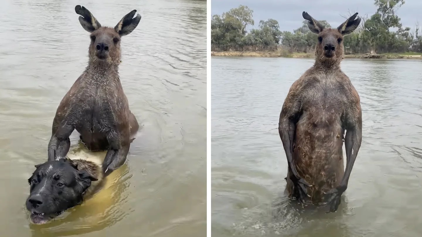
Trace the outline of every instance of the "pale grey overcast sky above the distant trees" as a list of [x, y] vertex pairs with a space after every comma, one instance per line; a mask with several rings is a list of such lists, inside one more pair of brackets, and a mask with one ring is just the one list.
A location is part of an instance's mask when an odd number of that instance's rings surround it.
[[[246, 5], [254, 11], [254, 27], [258, 26], [260, 20], [271, 18], [279, 22], [281, 31], [292, 31], [302, 25], [303, 11], [316, 20], [327, 20], [332, 27], [338, 27], [346, 20], [340, 14], [347, 16], [348, 9], [352, 13], [358, 12], [359, 16], [368, 14], [369, 18], [376, 11], [373, 3], [373, 0], [212, 0], [211, 14], [221, 14], [239, 5]], [[405, 0], [397, 15], [401, 18], [403, 26], [413, 29], [417, 21], [422, 25], [421, 12], [422, 0]]]

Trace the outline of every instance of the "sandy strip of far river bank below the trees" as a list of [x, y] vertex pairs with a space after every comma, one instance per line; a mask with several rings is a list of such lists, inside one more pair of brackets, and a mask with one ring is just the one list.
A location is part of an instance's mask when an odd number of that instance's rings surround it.
[[[346, 59], [358, 59], [363, 54], [346, 54]], [[381, 59], [422, 59], [422, 54], [414, 52], [379, 54]], [[314, 53], [292, 53], [285, 51], [211, 51], [211, 56], [217, 57], [286, 57], [286, 58], [314, 58]]]

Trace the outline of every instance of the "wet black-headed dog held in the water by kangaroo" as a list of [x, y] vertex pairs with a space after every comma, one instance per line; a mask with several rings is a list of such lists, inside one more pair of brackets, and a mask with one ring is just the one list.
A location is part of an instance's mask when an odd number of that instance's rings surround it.
[[33, 224], [45, 224], [63, 211], [81, 204], [103, 180], [101, 164], [68, 158], [35, 165], [28, 179], [26, 201]]

